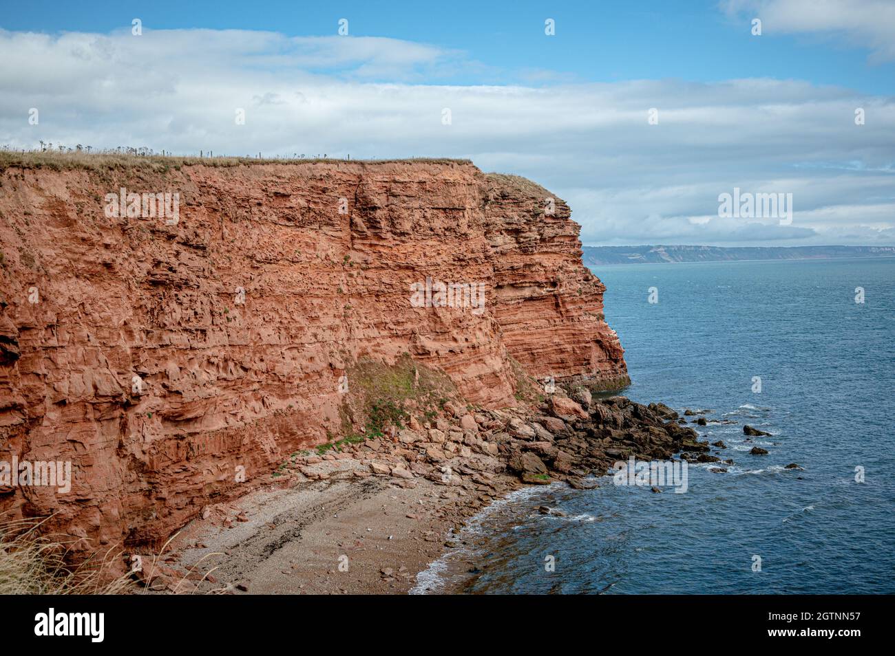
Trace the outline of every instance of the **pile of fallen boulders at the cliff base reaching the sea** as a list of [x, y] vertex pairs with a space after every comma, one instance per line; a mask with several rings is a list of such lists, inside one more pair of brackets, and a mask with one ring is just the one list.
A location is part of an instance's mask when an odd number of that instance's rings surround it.
[[[445, 416], [420, 425], [415, 419], [391, 437], [347, 444], [336, 453], [300, 456], [286, 467], [310, 479], [326, 478], [328, 461], [366, 462], [354, 476], [382, 476], [401, 486], [426, 478], [435, 484], [482, 492], [482, 502], [501, 492], [504, 478], [522, 484], [566, 481], [582, 485], [612, 463], [667, 459], [678, 451], [698, 458], [710, 450], [698, 433], [678, 423], [678, 413], [659, 403], [644, 406], [622, 396], [592, 399], [586, 388], [563, 391], [533, 408], [465, 411], [445, 405]], [[404, 483], [402, 483], [404, 482]], [[473, 504], [475, 507], [475, 504]]]

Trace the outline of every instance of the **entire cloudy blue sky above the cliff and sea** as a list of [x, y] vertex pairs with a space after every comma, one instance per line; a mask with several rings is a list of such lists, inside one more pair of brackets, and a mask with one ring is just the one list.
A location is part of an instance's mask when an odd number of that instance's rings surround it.
[[588, 245], [895, 245], [895, 0], [0, 0], [0, 147], [41, 140], [468, 158]]

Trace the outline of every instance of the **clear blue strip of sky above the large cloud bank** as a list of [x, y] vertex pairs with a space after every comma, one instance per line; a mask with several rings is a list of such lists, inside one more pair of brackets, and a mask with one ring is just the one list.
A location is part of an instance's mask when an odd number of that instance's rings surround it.
[[[561, 80], [717, 81], [773, 77], [891, 95], [895, 65], [868, 63], [866, 45], [835, 34], [750, 33], [748, 12], [730, 16], [711, 0], [630, 2], [4, 2], [10, 30], [108, 32], [140, 17], [148, 29], [252, 29], [325, 36], [346, 18], [353, 36], [388, 37], [464, 51], [481, 63], [444, 73], [455, 84], [533, 81], [524, 71]], [[553, 18], [557, 38], [544, 38]], [[548, 80], [544, 80], [548, 81]]]

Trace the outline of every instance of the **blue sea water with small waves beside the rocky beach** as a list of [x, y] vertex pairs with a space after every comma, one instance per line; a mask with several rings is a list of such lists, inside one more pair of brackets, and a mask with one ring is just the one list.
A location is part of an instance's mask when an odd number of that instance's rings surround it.
[[[690, 466], [680, 494], [608, 477], [526, 488], [475, 517], [416, 592], [895, 592], [895, 259], [594, 273], [626, 349], [623, 393], [736, 422], [694, 425], [735, 465]], [[772, 437], [746, 442], [744, 424]]]

